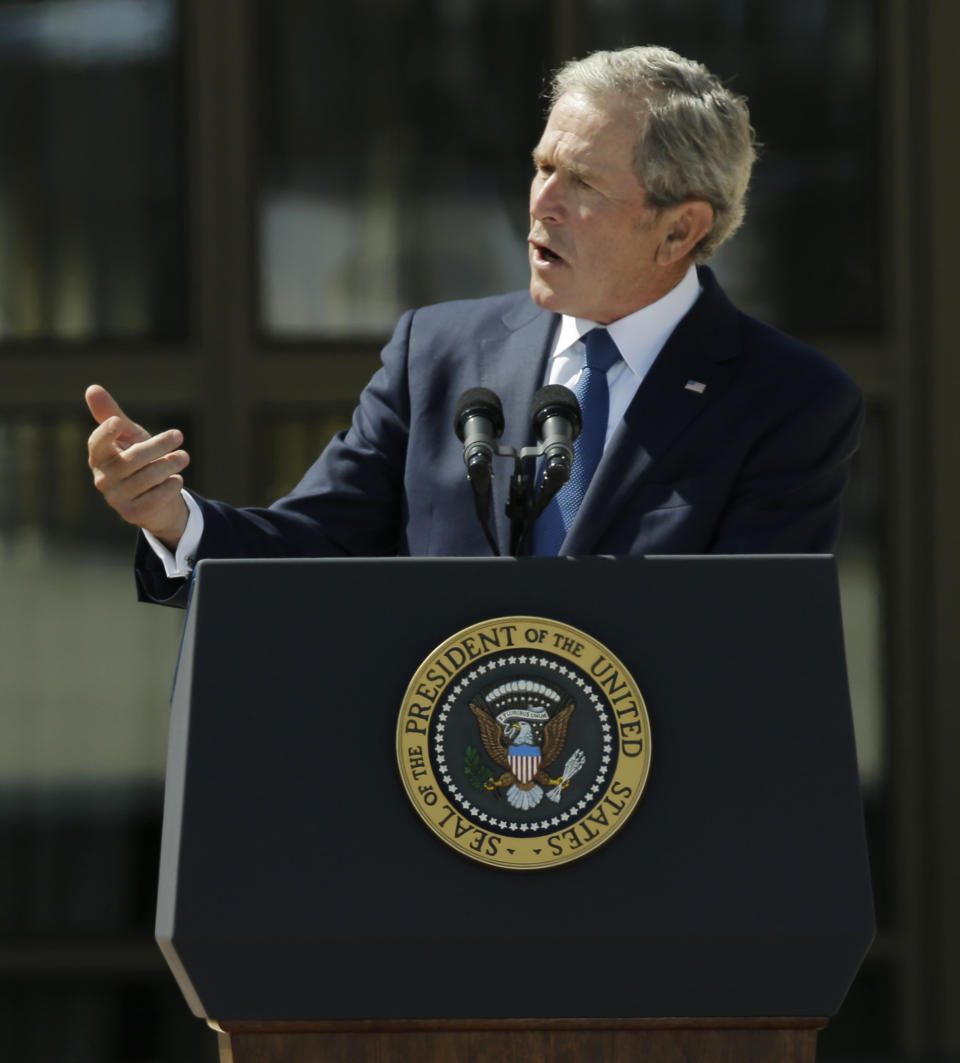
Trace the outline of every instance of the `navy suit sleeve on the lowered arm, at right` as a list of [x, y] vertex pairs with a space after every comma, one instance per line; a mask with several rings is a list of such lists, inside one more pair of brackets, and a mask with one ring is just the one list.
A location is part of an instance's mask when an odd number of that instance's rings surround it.
[[862, 425], [862, 396], [838, 373], [770, 427], [747, 455], [711, 553], [831, 553]]

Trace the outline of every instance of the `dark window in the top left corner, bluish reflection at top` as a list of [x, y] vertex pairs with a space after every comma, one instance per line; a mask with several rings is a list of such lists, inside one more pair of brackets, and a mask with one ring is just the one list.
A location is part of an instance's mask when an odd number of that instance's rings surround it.
[[185, 322], [173, 0], [0, 0], [0, 340]]

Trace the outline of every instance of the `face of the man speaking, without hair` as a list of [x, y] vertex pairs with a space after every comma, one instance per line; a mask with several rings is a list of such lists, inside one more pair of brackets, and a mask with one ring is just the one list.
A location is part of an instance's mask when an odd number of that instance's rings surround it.
[[561, 96], [550, 113], [530, 186], [530, 296], [538, 305], [608, 324], [679, 280], [656, 260], [670, 219], [647, 206], [634, 173], [640, 135], [625, 108], [579, 94]]

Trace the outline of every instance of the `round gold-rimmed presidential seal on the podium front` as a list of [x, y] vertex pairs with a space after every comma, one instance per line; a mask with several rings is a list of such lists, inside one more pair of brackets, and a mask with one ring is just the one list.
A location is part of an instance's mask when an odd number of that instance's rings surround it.
[[417, 670], [397, 756], [414, 807], [448, 845], [496, 867], [553, 867], [634, 811], [650, 720], [606, 646], [556, 621], [501, 617], [457, 631]]

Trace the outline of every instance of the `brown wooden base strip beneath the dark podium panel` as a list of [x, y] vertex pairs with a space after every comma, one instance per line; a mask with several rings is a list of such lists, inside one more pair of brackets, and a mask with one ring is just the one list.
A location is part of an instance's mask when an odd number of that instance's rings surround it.
[[814, 1063], [825, 1018], [210, 1023], [220, 1063]]

